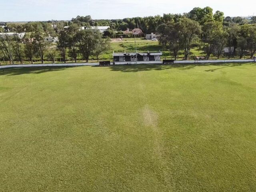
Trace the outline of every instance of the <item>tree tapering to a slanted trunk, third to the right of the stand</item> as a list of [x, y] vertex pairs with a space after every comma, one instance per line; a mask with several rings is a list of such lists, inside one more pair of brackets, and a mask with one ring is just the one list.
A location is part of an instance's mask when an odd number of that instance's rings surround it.
[[202, 27], [202, 41], [204, 42], [204, 49], [207, 59], [210, 58], [210, 55], [215, 50], [222, 30], [223, 27], [220, 22], [207, 22]]

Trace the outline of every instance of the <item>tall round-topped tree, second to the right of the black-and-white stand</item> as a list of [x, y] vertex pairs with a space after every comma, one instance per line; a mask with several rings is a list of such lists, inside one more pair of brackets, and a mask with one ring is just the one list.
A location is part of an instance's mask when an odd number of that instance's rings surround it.
[[201, 33], [201, 27], [198, 22], [194, 20], [182, 18], [178, 22], [177, 28], [181, 33], [181, 40], [184, 46], [184, 56], [185, 60], [187, 60], [193, 41]]

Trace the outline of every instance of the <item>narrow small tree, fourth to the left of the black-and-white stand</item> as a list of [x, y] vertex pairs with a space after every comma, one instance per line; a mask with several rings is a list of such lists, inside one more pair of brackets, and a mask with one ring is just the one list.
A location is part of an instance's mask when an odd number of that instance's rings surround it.
[[60, 55], [64, 63], [66, 63], [66, 50], [68, 48], [68, 33], [66, 31], [60, 31], [58, 34], [57, 48], [60, 51]]

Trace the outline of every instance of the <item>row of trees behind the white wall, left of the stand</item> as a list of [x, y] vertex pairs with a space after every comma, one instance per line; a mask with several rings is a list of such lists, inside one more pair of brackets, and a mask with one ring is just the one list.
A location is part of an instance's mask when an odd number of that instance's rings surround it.
[[[109, 39], [103, 39], [98, 30], [80, 30], [76, 23], [72, 23], [68, 30], [54, 31], [48, 23], [30, 23], [22, 27], [12, 26], [15, 31], [14, 36], [2, 36], [0, 38], [0, 57], [13, 63], [13, 60], [21, 64], [24, 58], [33, 63], [34, 57], [39, 57], [41, 62], [48, 58], [53, 63], [59, 53], [62, 61], [66, 63], [69, 56], [77, 62], [78, 54], [88, 62], [90, 56], [99, 55], [110, 47]], [[19, 32], [26, 28], [26, 35], [22, 38]], [[57, 37], [56, 44], [51, 44], [48, 38]]]

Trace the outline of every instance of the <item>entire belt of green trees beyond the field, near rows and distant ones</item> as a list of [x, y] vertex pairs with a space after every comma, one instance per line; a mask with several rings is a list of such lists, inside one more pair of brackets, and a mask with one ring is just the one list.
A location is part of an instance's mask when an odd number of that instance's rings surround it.
[[[110, 26], [110, 29], [102, 35], [98, 30], [82, 30], [81, 26]], [[92, 20], [90, 16], [77, 16], [71, 22], [29, 22], [8, 24], [7, 28], [15, 35], [0, 36], [0, 60], [10, 63], [14, 60], [21, 64], [24, 60], [33, 63], [33, 58], [40, 58], [42, 63], [44, 60], [55, 62], [56, 56], [63, 62], [67, 58], [76, 62], [81, 56], [88, 62], [89, 57], [99, 58], [102, 52], [110, 49], [106, 37], [116, 34], [113, 29], [126, 28], [140, 28], [145, 34], [156, 32], [163, 49], [169, 50], [174, 58], [182, 51], [184, 59], [188, 59], [194, 47], [203, 47], [207, 59], [212, 55], [220, 58], [224, 48], [228, 49], [228, 58], [233, 54], [252, 58], [256, 52], [255, 24], [247, 24], [239, 17], [224, 18], [223, 12], [213, 13], [210, 7], [194, 8], [184, 14], [122, 20]], [[22, 32], [26, 32], [25, 36], [20, 36]], [[49, 38], [56, 39], [56, 43], [50, 43]]]

